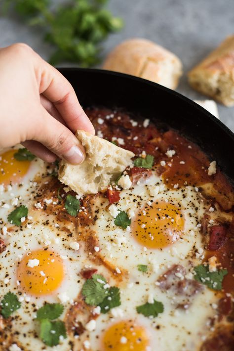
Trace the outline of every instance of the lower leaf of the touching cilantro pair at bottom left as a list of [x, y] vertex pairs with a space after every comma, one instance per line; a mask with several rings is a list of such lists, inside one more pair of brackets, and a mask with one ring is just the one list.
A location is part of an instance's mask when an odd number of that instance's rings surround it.
[[40, 322], [40, 339], [47, 346], [56, 346], [60, 342], [60, 337], [67, 338], [65, 324], [62, 320], [53, 322], [42, 319]]

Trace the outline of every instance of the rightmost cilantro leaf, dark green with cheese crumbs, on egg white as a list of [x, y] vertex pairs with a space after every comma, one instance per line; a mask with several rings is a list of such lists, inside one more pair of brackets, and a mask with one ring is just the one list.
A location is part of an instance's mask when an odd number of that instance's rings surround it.
[[221, 290], [223, 278], [228, 274], [227, 269], [220, 269], [215, 272], [210, 272], [208, 265], [199, 264], [195, 268], [195, 280], [208, 286], [213, 290]]

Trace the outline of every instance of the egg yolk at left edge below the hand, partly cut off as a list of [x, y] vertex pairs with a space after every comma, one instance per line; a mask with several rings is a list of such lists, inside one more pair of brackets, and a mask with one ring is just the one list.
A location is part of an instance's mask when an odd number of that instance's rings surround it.
[[0, 155], [0, 184], [9, 185], [20, 182], [29, 170], [30, 161], [17, 161], [14, 158], [16, 149]]

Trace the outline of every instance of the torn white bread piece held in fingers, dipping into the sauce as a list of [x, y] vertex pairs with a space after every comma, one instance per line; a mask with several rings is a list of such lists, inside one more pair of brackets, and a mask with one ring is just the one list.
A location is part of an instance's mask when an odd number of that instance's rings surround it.
[[61, 161], [58, 178], [79, 195], [107, 188], [131, 165], [133, 152], [84, 131], [77, 131], [76, 136], [85, 148], [86, 158], [78, 166]]

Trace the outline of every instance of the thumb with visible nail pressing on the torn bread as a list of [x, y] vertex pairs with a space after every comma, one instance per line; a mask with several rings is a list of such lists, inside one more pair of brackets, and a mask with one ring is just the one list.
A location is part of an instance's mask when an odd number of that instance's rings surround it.
[[85, 158], [85, 150], [76, 136], [42, 106], [39, 110], [38, 128], [33, 139], [71, 164], [78, 165]]

